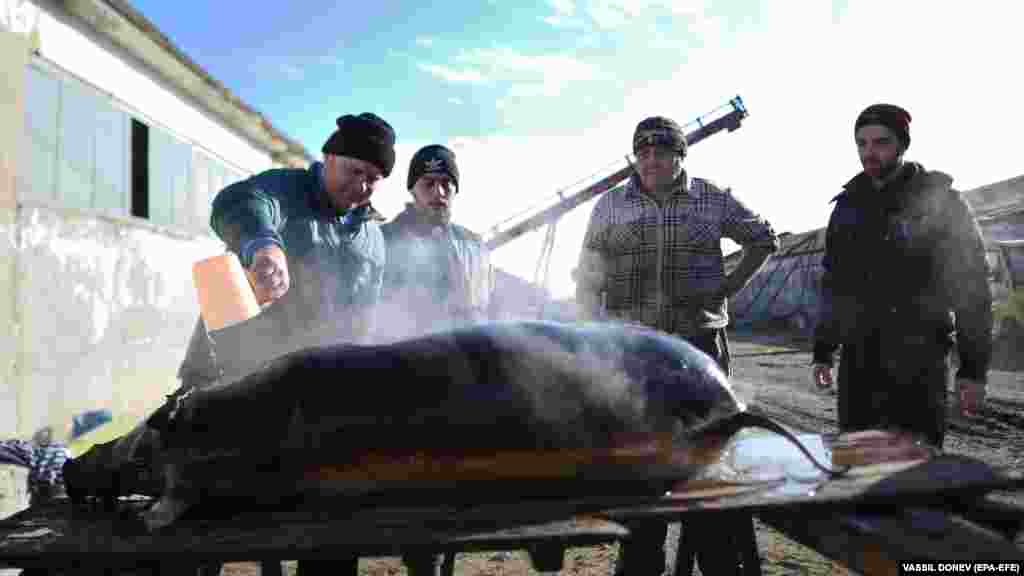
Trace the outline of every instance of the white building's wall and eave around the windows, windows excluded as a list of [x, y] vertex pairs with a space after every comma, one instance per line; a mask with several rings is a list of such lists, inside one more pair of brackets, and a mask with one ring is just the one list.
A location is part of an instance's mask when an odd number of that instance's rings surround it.
[[[199, 314], [191, 264], [223, 250], [201, 225], [159, 227], [30, 200], [18, 189], [26, 184], [15, 184], [31, 161], [22, 101], [28, 59], [97, 87], [243, 173], [272, 165], [268, 152], [53, 5], [40, 4], [28, 18], [34, 34], [0, 26], [0, 438], [26, 438], [43, 425], [63, 436], [87, 409], [142, 417], [159, 406], [177, 385]], [[33, 9], [0, 0], [0, 12], [12, 6]], [[39, 51], [30, 56], [33, 44]]]

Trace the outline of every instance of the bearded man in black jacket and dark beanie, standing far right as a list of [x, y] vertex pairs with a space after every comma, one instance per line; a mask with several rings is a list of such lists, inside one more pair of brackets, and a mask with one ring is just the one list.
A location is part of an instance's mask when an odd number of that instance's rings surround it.
[[841, 430], [898, 429], [941, 448], [954, 343], [962, 409], [983, 398], [992, 298], [980, 230], [952, 178], [903, 161], [909, 123], [893, 105], [856, 120], [864, 169], [834, 199], [813, 378], [831, 385], [842, 346]]

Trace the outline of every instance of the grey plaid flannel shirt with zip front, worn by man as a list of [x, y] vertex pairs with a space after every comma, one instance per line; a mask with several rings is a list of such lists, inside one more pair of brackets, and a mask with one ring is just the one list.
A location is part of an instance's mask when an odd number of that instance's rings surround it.
[[604, 294], [607, 316], [684, 336], [729, 323], [721, 240], [778, 249], [771, 225], [684, 171], [662, 202], [634, 175], [594, 207], [580, 258], [578, 301]]

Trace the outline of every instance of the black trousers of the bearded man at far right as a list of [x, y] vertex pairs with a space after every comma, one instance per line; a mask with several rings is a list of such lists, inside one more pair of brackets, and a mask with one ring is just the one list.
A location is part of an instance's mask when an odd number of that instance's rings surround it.
[[941, 448], [952, 377], [951, 347], [939, 337], [895, 333], [843, 344], [840, 429], [899, 429]]

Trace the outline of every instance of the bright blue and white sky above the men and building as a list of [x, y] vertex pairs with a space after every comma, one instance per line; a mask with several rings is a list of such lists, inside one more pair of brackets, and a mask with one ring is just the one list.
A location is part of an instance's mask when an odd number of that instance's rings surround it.
[[[625, 165], [643, 118], [684, 124], [736, 95], [742, 126], [694, 146], [684, 167], [779, 233], [825, 225], [860, 170], [853, 122], [879, 101], [910, 112], [906, 159], [961, 190], [1024, 173], [1015, 0], [132, 4], [316, 158], [340, 115], [390, 122], [397, 161], [373, 198], [387, 217], [410, 200], [415, 151], [453, 148], [454, 220], [484, 236]], [[593, 205], [558, 223], [553, 297], [573, 292]], [[532, 280], [543, 238], [520, 237], [493, 262]]]

